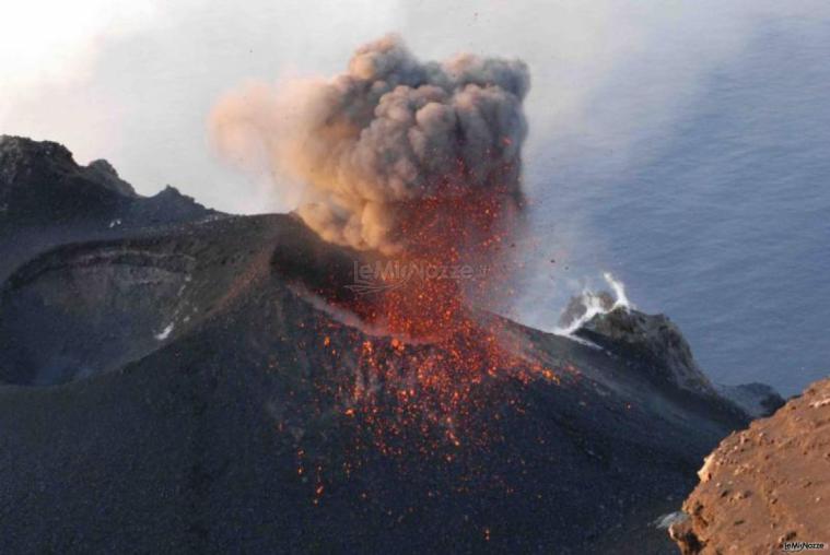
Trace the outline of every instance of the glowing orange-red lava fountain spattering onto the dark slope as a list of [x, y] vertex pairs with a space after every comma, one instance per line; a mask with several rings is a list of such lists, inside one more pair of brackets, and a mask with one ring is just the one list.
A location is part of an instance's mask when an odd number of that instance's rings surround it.
[[489, 385], [554, 379], [519, 355], [519, 346], [504, 344], [500, 319], [482, 321], [468, 308], [470, 296], [492, 296], [510, 278], [499, 263], [516, 225], [516, 200], [496, 191], [407, 210], [401, 233], [409, 247], [396, 261], [439, 270], [402, 283], [393, 276], [378, 294], [356, 302], [355, 312], [391, 340], [362, 343], [347, 411], [358, 411], [390, 453], [412, 434], [451, 446], [488, 441], [488, 432], [471, 432], [470, 422], [486, 409]]

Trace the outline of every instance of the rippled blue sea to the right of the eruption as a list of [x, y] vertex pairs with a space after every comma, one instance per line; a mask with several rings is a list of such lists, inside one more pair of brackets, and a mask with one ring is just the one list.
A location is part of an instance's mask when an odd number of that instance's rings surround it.
[[549, 180], [534, 226], [560, 259], [545, 309], [525, 299], [527, 320], [551, 328], [565, 292], [610, 270], [638, 307], [678, 322], [715, 381], [792, 394], [827, 376], [830, 26], [759, 29], [627, 155], [531, 172]]

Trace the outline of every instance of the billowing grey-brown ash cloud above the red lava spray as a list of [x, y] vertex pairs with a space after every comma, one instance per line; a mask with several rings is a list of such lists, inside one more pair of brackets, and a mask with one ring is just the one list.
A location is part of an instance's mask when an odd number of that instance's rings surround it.
[[424, 212], [463, 213], [482, 197], [521, 203], [528, 86], [521, 60], [421, 62], [389, 35], [332, 79], [230, 94], [210, 126], [230, 160], [258, 153], [278, 187], [302, 184], [297, 213], [323, 238], [390, 255], [423, 238], [413, 227], [428, 225]]

